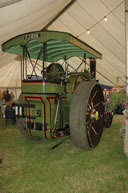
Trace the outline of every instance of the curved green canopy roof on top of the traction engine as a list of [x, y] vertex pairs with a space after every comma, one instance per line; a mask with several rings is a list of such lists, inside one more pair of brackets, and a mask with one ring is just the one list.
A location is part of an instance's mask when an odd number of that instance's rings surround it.
[[56, 62], [61, 59], [69, 59], [73, 56], [85, 58], [100, 58], [102, 55], [69, 33], [47, 31], [30, 32], [8, 40], [2, 44], [4, 52], [23, 56], [23, 48], [26, 48], [33, 59]]

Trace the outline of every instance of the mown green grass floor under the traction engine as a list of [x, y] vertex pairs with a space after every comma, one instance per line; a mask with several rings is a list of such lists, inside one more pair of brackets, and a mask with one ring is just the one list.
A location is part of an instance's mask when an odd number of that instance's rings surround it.
[[0, 119], [0, 193], [128, 193], [128, 159], [122, 152], [116, 115], [92, 151], [76, 148], [70, 137], [42, 142], [25, 139]]

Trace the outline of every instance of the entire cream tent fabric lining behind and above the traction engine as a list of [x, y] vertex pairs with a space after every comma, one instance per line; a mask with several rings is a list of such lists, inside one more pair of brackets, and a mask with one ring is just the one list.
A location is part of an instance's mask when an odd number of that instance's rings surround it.
[[[69, 2], [71, 0], [20, 0], [1, 7], [0, 44], [16, 35], [41, 30]], [[97, 60], [100, 83], [125, 84], [124, 0], [76, 0], [48, 29], [70, 32], [103, 54], [103, 59]], [[20, 87], [20, 62], [15, 58], [0, 51], [1, 88]], [[75, 65], [78, 59], [70, 62]]]

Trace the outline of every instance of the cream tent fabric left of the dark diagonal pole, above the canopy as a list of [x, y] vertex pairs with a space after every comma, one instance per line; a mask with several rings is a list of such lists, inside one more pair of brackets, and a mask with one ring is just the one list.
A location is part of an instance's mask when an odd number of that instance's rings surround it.
[[[40, 30], [71, 0], [22, 0], [0, 8], [0, 44], [16, 35]], [[16, 56], [0, 53], [0, 67]]]

